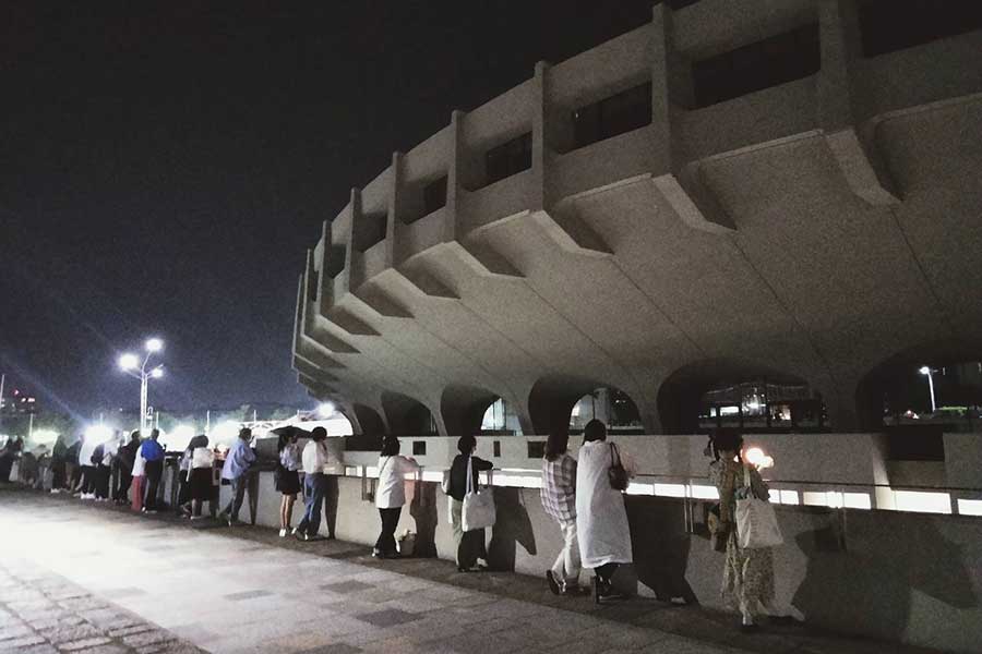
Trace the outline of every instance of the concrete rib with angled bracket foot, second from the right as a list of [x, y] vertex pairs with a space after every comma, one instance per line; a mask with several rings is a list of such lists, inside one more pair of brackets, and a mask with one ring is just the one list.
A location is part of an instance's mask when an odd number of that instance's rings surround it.
[[651, 14], [651, 133], [655, 186], [679, 219], [693, 229], [711, 233], [735, 230], [700, 174], [698, 161], [686, 161], [684, 144], [675, 130], [680, 107], [690, 102], [688, 72], [672, 43], [672, 11], [656, 4]]

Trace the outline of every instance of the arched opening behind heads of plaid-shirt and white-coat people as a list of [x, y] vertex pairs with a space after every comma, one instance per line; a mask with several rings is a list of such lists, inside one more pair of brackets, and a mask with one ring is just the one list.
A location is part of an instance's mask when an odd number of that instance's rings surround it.
[[577, 433], [594, 417], [613, 433], [643, 433], [637, 403], [624, 391], [597, 379], [550, 375], [532, 386], [529, 413], [537, 434]]

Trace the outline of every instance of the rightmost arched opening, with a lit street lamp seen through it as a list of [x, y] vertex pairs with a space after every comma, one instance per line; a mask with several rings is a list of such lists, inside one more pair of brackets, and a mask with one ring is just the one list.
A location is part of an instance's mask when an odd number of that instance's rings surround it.
[[910, 348], [866, 373], [857, 386], [860, 426], [979, 428], [982, 409], [982, 344], [959, 340]]

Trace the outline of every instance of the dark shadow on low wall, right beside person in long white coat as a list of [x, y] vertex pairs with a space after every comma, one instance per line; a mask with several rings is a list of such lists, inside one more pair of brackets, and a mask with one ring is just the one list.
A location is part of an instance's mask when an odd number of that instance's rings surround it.
[[696, 603], [695, 592], [685, 580], [692, 536], [682, 525], [681, 502], [636, 501], [626, 496], [631, 524], [631, 548], [637, 580], [651, 589], [659, 600], [684, 597]]

